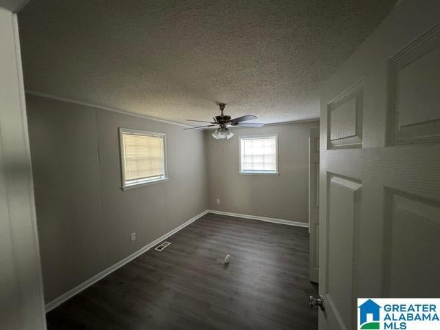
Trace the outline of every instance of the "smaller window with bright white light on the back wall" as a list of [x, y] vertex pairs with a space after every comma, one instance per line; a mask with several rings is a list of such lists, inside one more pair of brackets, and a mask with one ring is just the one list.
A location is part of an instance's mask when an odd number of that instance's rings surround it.
[[278, 135], [240, 137], [240, 174], [278, 175]]

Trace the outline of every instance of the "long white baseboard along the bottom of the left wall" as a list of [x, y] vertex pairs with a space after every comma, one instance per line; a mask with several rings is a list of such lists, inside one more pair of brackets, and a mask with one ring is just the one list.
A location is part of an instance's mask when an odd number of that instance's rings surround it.
[[118, 270], [118, 268], [122, 267], [126, 263], [129, 263], [130, 261], [135, 259], [137, 256], [140, 256], [142, 253], [150, 250], [151, 248], [153, 248], [153, 246], [155, 246], [158, 243], [164, 241], [164, 239], [167, 239], [169, 236], [175, 234], [179, 230], [185, 228], [190, 223], [196, 221], [200, 217], [203, 217], [203, 215], [205, 215], [206, 213], [208, 213], [208, 210], [203, 211], [200, 214], [197, 214], [195, 217], [192, 217], [191, 219], [189, 219], [185, 223], [182, 223], [177, 228], [174, 228], [173, 230], [171, 230], [170, 232], [167, 232], [166, 234], [164, 234], [163, 236], [159, 237], [155, 241], [145, 245], [144, 248], [142, 248], [140, 250], [137, 250], [135, 253], [127, 256], [126, 258], [122, 259], [121, 261], [118, 261], [118, 263], [115, 263], [111, 267], [109, 267], [106, 270], [103, 270], [102, 272], [100, 272], [100, 273], [96, 274], [95, 276], [89, 278], [87, 281], [85, 281], [85, 282], [81, 283], [80, 285], [74, 287], [73, 289], [69, 290], [65, 294], [62, 294], [58, 298], [55, 298], [54, 300], [50, 301], [49, 303], [46, 304], [46, 313], [49, 312], [49, 311], [52, 311], [52, 309], [54, 309], [55, 307], [58, 307], [59, 305], [64, 303], [69, 298], [72, 298], [76, 294], [79, 294], [84, 289], [87, 289], [87, 287], [89, 287], [90, 285], [93, 285], [94, 283], [100, 281], [100, 279], [104, 278], [105, 276], [109, 275], [110, 273], [114, 272], [115, 270]]

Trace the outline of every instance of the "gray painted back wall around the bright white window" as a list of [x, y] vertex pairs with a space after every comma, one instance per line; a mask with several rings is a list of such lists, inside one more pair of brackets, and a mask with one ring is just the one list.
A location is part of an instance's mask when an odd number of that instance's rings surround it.
[[[231, 140], [215, 140], [206, 131], [210, 210], [308, 222], [311, 128], [319, 122], [234, 129]], [[280, 175], [239, 175], [239, 136], [270, 133], [278, 134]]]

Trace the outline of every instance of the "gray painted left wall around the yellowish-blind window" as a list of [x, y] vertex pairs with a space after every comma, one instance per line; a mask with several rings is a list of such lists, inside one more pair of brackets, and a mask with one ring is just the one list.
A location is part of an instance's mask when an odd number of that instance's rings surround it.
[[[46, 302], [206, 210], [203, 132], [30, 94], [26, 104]], [[166, 133], [168, 181], [120, 189], [120, 126]]]

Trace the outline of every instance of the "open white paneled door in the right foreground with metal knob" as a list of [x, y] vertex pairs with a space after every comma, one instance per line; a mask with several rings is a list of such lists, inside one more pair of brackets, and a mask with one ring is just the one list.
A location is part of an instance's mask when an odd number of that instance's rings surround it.
[[319, 329], [440, 296], [440, 1], [401, 0], [323, 85]]

